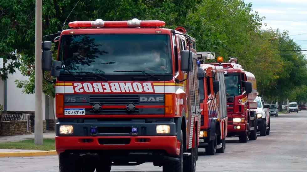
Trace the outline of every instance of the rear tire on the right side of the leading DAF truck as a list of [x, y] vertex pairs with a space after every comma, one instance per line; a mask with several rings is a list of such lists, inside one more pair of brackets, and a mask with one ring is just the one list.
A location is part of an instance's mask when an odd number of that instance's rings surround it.
[[196, 171], [196, 148], [197, 148], [197, 139], [196, 139], [196, 131], [194, 135], [194, 148], [190, 149], [190, 156], [184, 157], [184, 163], [183, 163], [183, 171], [184, 172], [195, 172]]

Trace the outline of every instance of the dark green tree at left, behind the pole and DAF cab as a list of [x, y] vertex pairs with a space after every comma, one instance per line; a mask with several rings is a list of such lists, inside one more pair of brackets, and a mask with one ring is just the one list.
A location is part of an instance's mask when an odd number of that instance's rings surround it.
[[[89, 0], [80, 1], [71, 13], [68, 21], [76, 20], [164, 20], [168, 27], [174, 28], [183, 23], [187, 14], [196, 9], [201, 0]], [[56, 33], [62, 29], [71, 9], [75, 6], [73, 0], [46, 0], [43, 2], [43, 35]], [[2, 0], [0, 2], [0, 55], [4, 61], [11, 60], [1, 70], [1, 77], [14, 73], [21, 64], [23, 75], [29, 81], [16, 81], [17, 86], [28, 94], [34, 93], [34, 38], [35, 38], [35, 1], [33, 0]], [[67, 23], [66, 23], [67, 24]], [[68, 28], [67, 25], [64, 28]], [[18, 61], [19, 60], [19, 61]], [[7, 72], [8, 71], [8, 72]], [[44, 82], [44, 93], [54, 95], [51, 85]], [[47, 91], [47, 92], [46, 92]], [[51, 91], [51, 92], [49, 92]]]

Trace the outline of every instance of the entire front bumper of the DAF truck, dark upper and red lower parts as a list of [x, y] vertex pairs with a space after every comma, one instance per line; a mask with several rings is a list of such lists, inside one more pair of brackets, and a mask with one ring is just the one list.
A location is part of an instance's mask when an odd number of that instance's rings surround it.
[[[55, 124], [55, 146], [66, 150], [160, 150], [179, 155], [177, 119], [59, 119]], [[72, 125], [73, 133], [60, 134], [60, 125]], [[169, 134], [157, 134], [157, 125], [169, 125]], [[132, 128], [137, 131], [132, 132]], [[92, 132], [95, 129], [96, 132]]]

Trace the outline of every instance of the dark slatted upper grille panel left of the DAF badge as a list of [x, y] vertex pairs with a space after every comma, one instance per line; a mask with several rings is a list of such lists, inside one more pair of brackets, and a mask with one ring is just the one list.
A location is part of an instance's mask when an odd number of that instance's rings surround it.
[[126, 105], [130, 102], [139, 104], [139, 96], [132, 94], [105, 94], [105, 95], [90, 95], [90, 104], [100, 103], [104, 105]]

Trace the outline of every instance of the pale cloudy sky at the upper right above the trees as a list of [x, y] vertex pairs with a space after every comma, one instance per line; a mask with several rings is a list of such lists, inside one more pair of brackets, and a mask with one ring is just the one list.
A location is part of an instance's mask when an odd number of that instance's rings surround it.
[[307, 50], [307, 0], [244, 0], [244, 2], [252, 3], [253, 11], [265, 16], [262, 26], [264, 29], [288, 30], [290, 38], [301, 45], [302, 50]]

